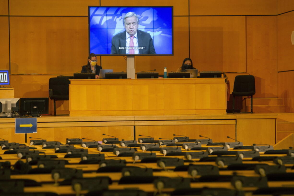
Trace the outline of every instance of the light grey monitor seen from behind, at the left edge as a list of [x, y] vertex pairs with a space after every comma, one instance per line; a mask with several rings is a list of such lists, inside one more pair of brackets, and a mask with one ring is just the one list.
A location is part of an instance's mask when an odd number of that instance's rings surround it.
[[19, 98], [0, 99], [0, 116], [14, 117], [19, 116]]

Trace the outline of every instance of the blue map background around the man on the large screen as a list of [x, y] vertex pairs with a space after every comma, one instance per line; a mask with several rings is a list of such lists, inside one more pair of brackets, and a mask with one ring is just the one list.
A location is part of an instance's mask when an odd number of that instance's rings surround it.
[[130, 11], [139, 17], [138, 29], [151, 35], [156, 54], [172, 54], [171, 7], [89, 7], [90, 53], [111, 53], [111, 39], [125, 31], [123, 17]]

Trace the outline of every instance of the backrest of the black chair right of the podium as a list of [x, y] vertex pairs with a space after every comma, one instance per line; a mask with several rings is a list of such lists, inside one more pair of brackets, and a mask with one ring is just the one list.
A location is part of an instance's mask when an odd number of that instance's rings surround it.
[[236, 76], [234, 82], [234, 92], [254, 92], [255, 78], [251, 75]]

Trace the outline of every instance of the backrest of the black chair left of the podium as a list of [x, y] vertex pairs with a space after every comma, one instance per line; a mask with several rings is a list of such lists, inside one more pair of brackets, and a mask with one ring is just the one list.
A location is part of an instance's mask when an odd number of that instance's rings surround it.
[[68, 77], [56, 77], [49, 79], [49, 89], [52, 89], [53, 95], [69, 95]]

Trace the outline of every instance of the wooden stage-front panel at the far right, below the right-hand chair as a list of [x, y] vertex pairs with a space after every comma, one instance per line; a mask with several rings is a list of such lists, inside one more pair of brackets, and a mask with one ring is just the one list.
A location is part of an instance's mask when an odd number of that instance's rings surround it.
[[244, 145], [273, 145], [275, 134], [275, 119], [237, 119], [237, 139]]

